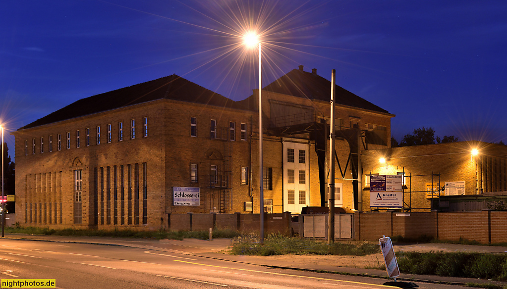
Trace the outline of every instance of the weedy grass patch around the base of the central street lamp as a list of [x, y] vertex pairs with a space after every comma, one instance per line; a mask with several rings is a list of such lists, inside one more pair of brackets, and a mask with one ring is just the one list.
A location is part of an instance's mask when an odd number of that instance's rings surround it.
[[327, 242], [296, 237], [286, 237], [281, 234], [269, 234], [260, 243], [259, 237], [254, 235], [236, 237], [232, 240], [231, 254], [233, 255], [352, 255], [365, 256], [378, 253], [379, 247], [375, 243], [361, 242], [335, 242], [328, 245]]

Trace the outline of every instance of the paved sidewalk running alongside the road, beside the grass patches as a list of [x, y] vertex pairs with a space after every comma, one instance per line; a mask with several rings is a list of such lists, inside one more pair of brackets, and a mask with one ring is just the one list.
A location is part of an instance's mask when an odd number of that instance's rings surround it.
[[[111, 237], [68, 237], [68, 236], [45, 236], [45, 235], [28, 235], [28, 234], [6, 234], [8, 239], [18, 240], [37, 240], [51, 242], [73, 242], [73, 243], [92, 243], [103, 245], [117, 245], [126, 247], [135, 247], [146, 250], [162, 251], [193, 255], [204, 258], [212, 258], [230, 262], [241, 262], [252, 265], [269, 266], [275, 268], [300, 269], [307, 271], [325, 271], [339, 274], [351, 274], [370, 277], [385, 277], [385, 270], [365, 269], [359, 263], [355, 266], [343, 266], [344, 259], [348, 259], [354, 263], [354, 258], [345, 256], [314, 256], [302, 255], [294, 258], [292, 255], [284, 256], [234, 256], [226, 254], [224, 251], [230, 245], [230, 239], [214, 239], [212, 241], [198, 239], [179, 240], [154, 240], [154, 239], [132, 239], [132, 238], [111, 238]], [[482, 252], [482, 253], [504, 253], [507, 247], [496, 246], [477, 246], [477, 245], [457, 245], [457, 244], [411, 244], [411, 245], [395, 245], [395, 251], [445, 251], [445, 252]], [[379, 254], [380, 258], [381, 255]], [[372, 256], [371, 258], [378, 258]], [[383, 265], [380, 259], [377, 264]], [[401, 274], [399, 280], [412, 282], [428, 282], [428, 283], [448, 283], [456, 285], [464, 285], [468, 282], [473, 283], [494, 283], [505, 286], [507, 282], [494, 282], [483, 279], [473, 278], [457, 278], [457, 277], [441, 277], [434, 275], [411, 275]], [[387, 281], [387, 280], [386, 280]]]

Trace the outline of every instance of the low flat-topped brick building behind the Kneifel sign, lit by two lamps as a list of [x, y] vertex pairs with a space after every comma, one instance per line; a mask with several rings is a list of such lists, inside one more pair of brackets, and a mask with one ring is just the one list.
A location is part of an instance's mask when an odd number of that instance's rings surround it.
[[[380, 158], [385, 162], [380, 163]], [[404, 174], [404, 208], [411, 212], [436, 209], [439, 195], [507, 192], [507, 146], [499, 144], [466, 141], [368, 150], [362, 153], [361, 163], [364, 211], [377, 209], [370, 208], [371, 175]]]

